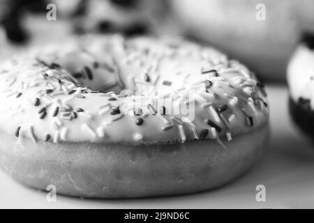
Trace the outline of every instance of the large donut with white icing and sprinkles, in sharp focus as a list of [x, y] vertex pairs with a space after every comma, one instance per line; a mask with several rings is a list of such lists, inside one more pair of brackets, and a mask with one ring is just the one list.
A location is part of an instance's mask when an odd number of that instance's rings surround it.
[[199, 192], [264, 151], [262, 84], [210, 47], [89, 36], [0, 70], [0, 164], [31, 187], [96, 198]]

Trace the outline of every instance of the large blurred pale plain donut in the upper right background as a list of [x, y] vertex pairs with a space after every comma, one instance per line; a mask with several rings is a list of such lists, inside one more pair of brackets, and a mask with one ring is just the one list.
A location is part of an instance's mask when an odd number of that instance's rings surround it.
[[[267, 80], [285, 81], [294, 47], [304, 33], [314, 31], [311, 0], [170, 3], [183, 32], [222, 49]], [[265, 20], [257, 20], [263, 6]]]

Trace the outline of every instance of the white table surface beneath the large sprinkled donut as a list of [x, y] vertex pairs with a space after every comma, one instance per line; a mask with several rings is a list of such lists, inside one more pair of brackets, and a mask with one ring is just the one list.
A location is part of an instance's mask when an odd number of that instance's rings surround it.
[[[0, 171], [0, 208], [314, 208], [314, 145], [294, 128], [287, 112], [287, 88], [267, 87], [271, 140], [264, 158], [246, 175], [217, 190], [177, 197], [96, 200], [57, 195], [24, 187]], [[256, 185], [266, 201], [255, 199]]]

